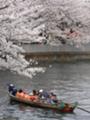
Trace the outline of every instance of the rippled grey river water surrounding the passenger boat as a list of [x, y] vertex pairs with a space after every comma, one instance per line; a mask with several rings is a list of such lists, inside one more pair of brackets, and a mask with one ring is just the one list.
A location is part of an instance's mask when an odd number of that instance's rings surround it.
[[55, 92], [65, 102], [79, 103], [79, 107], [90, 111], [90, 62], [42, 63], [47, 69], [32, 79], [10, 71], [0, 71], [0, 120], [90, 120], [90, 113], [75, 109], [73, 114], [60, 114], [24, 106], [11, 105], [7, 94], [7, 83], [14, 83], [27, 92], [44, 88]]

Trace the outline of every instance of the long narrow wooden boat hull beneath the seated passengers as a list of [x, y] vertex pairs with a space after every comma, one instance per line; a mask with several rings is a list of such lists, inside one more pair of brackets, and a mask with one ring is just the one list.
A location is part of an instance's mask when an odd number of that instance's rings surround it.
[[59, 104], [52, 105], [52, 104], [44, 103], [42, 101], [33, 102], [31, 100], [21, 99], [16, 96], [13, 96], [12, 94], [9, 94], [9, 96], [10, 96], [11, 101], [24, 103], [24, 104], [30, 105], [32, 107], [51, 109], [51, 110], [55, 110], [55, 111], [62, 112], [62, 113], [72, 113], [74, 111], [74, 109], [77, 107], [77, 102], [71, 103], [71, 104], [61, 102]]

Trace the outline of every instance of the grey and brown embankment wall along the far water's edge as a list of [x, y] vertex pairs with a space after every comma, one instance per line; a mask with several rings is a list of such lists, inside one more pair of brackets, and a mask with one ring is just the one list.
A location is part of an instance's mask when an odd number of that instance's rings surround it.
[[22, 47], [25, 50], [22, 54], [25, 55], [27, 60], [34, 59], [49, 62], [90, 60], [89, 45], [76, 48], [70, 45], [49, 46], [42, 44], [23, 44]]

